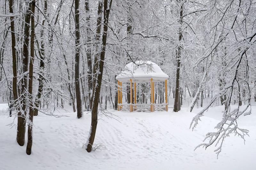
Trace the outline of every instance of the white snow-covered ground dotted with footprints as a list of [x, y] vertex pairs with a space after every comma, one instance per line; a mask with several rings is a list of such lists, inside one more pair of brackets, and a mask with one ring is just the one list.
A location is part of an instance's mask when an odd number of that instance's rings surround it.
[[[60, 118], [39, 114], [34, 118], [32, 154], [26, 154], [26, 143], [16, 142], [16, 127], [8, 117], [6, 104], [0, 104], [0, 169], [256, 169], [256, 107], [252, 115], [239, 119], [241, 127], [250, 130], [246, 142], [227, 137], [219, 159], [214, 146], [195, 147], [205, 134], [213, 131], [221, 119], [222, 106], [212, 107], [199, 122], [189, 129], [195, 113], [180, 112], [127, 113], [108, 110], [114, 118], [100, 117], [94, 144], [104, 144], [106, 150], [87, 153], [82, 148], [91, 123], [90, 114], [81, 119], [76, 113], [55, 113]], [[15, 120], [15, 124], [17, 120]], [[27, 132], [26, 132], [27, 133]]]

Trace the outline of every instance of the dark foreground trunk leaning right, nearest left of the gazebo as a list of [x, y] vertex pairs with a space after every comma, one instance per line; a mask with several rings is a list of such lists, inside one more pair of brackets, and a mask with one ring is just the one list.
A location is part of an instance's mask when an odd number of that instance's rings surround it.
[[97, 86], [95, 87], [94, 98], [93, 98], [93, 105], [92, 105], [92, 122], [90, 128], [90, 134], [88, 139], [88, 144], [86, 151], [92, 151], [92, 145], [94, 142], [97, 123], [98, 123], [98, 105], [99, 105], [99, 98], [100, 98], [100, 88], [101, 88], [101, 81], [103, 75], [103, 68], [104, 68], [104, 59], [105, 59], [105, 51], [106, 51], [106, 43], [107, 43], [107, 32], [108, 32], [108, 17], [110, 12], [110, 7], [112, 4], [112, 0], [110, 0], [110, 4], [108, 5], [108, 0], [104, 0], [104, 26], [103, 26], [103, 35], [102, 35], [102, 48], [100, 52], [100, 60], [99, 60], [99, 70], [97, 71]]

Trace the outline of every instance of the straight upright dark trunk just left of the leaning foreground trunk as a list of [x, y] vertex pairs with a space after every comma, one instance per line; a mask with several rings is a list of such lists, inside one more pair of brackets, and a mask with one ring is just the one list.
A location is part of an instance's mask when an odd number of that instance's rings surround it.
[[76, 86], [76, 108], [77, 108], [77, 118], [81, 118], [83, 116], [83, 104], [82, 104], [82, 96], [81, 96], [81, 87], [80, 84], [80, 21], [79, 21], [79, 0], [75, 0], [75, 86]]

